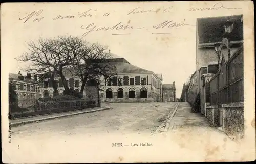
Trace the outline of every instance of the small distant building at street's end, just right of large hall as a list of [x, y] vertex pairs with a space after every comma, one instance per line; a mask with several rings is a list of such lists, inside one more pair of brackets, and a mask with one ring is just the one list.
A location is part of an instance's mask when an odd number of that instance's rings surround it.
[[163, 101], [162, 102], [175, 102], [175, 101], [176, 101], [175, 82], [173, 84], [163, 84]]

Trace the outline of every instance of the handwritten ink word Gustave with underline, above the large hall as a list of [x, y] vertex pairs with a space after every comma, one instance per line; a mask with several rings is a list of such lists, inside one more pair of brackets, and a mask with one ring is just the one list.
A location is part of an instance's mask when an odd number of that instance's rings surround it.
[[123, 25], [122, 22], [119, 22], [113, 26], [97, 26], [94, 23], [91, 23], [89, 25], [81, 25], [81, 29], [85, 29], [86, 32], [83, 33], [83, 35], [81, 36], [81, 38], [85, 37], [86, 35], [88, 35], [89, 33], [93, 32], [93, 31], [117, 31], [117, 30], [139, 30], [139, 29], [143, 29], [144, 27], [137, 27], [135, 28], [134, 26], [131, 25]]

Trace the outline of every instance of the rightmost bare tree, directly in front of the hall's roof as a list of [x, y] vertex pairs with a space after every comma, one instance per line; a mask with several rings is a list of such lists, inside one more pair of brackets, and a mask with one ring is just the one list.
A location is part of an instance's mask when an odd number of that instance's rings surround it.
[[[99, 43], [88, 43], [78, 37], [72, 38], [73, 64], [68, 68], [74, 77], [79, 77], [82, 85], [80, 94], [86, 89], [88, 81], [94, 81], [94, 86], [100, 89], [100, 77], [105, 80], [116, 75], [116, 67], [109, 61], [112, 57], [106, 51], [108, 47]], [[75, 44], [76, 43], [76, 44]]]

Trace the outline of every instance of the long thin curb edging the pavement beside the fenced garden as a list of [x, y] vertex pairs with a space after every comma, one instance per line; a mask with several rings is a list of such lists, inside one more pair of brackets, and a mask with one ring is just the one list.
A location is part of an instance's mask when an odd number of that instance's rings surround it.
[[81, 112], [76, 112], [76, 113], [71, 113], [71, 114], [63, 114], [63, 115], [60, 115], [60, 116], [50, 116], [50, 117], [46, 117], [46, 118], [40, 118], [40, 119], [34, 119], [34, 120], [28, 120], [28, 121], [21, 121], [21, 122], [14, 122], [14, 123], [10, 123], [10, 127], [18, 126], [18, 125], [23, 125], [23, 124], [27, 124], [27, 123], [32, 123], [32, 122], [45, 121], [45, 120], [52, 120], [52, 119], [55, 119], [55, 118], [61, 118], [61, 117], [79, 115], [79, 114], [83, 114], [83, 113], [91, 113], [91, 112], [109, 110], [109, 109], [111, 109], [111, 108], [112, 108], [112, 107], [102, 107], [102, 108], [98, 108], [98, 109], [96, 109], [96, 110], [81, 111]]

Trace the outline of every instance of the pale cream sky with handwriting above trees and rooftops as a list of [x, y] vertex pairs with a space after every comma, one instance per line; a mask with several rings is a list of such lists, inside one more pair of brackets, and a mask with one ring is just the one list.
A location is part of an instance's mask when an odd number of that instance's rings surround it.
[[82, 37], [108, 45], [135, 66], [161, 73], [164, 84], [175, 81], [179, 98], [183, 83], [196, 70], [196, 19], [241, 14], [239, 7], [228, 2], [5, 4], [1, 53], [8, 58], [8, 71], [17, 73], [29, 65], [15, 60], [28, 51], [26, 42], [40, 36]]

